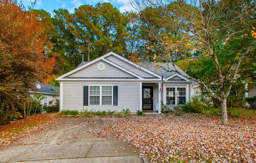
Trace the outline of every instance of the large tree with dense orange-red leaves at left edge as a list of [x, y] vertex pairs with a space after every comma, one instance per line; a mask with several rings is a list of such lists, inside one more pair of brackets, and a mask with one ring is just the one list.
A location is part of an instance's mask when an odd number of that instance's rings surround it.
[[0, 120], [23, 105], [36, 81], [47, 80], [55, 64], [47, 39], [35, 13], [15, 0], [0, 0]]

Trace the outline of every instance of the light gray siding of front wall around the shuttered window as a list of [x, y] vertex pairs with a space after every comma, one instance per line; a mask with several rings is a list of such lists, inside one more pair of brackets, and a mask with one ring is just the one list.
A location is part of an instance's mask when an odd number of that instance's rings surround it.
[[[63, 82], [63, 110], [116, 110], [130, 109], [132, 112], [139, 110], [139, 81], [62, 81]], [[118, 86], [118, 105], [89, 105], [83, 106], [83, 87]], [[113, 89], [113, 87], [112, 87]], [[90, 94], [90, 93], [89, 93]], [[112, 91], [113, 94], [113, 91]], [[113, 100], [112, 100], [113, 103]]]

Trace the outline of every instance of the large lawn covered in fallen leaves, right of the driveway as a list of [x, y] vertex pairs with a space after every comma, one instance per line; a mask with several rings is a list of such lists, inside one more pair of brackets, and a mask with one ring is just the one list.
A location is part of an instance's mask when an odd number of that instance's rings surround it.
[[171, 114], [112, 118], [98, 136], [126, 137], [151, 162], [256, 162], [256, 117]]

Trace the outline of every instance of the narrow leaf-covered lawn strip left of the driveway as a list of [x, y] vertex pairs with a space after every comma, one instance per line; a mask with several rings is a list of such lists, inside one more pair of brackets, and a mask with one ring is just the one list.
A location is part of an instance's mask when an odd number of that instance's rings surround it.
[[18, 120], [12, 124], [0, 127], [0, 147], [15, 142], [18, 138], [29, 136], [43, 130], [53, 122], [52, 114], [38, 114], [37, 116]]

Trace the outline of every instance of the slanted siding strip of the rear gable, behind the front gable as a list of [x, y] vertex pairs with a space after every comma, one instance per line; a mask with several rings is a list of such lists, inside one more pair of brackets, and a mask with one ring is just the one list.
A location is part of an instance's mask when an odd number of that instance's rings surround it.
[[124, 67], [125, 69], [128, 69], [129, 71], [132, 71], [133, 73], [145, 78], [145, 77], [152, 77], [152, 78], [155, 78], [154, 75], [152, 74], [149, 74], [148, 72], [145, 72], [137, 67], [135, 67], [134, 65], [131, 65], [130, 63], [127, 63], [113, 55], [111, 56], [108, 56], [106, 58], [107, 60], [110, 60], [111, 62], [114, 62], [115, 64], [121, 66], [121, 67]]

